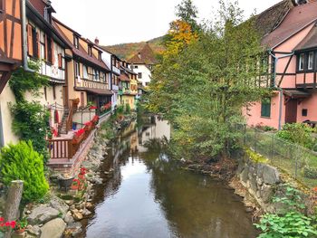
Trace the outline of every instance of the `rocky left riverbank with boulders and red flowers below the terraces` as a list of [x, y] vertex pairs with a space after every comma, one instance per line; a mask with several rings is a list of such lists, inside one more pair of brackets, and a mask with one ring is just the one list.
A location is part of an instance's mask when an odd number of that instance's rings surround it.
[[[104, 120], [95, 132], [91, 149], [82, 161], [81, 171], [75, 175], [51, 173], [50, 193], [38, 203], [25, 206], [23, 216], [28, 226], [24, 233], [14, 234], [13, 237], [79, 237], [82, 233], [82, 219], [90, 217], [94, 209], [91, 203], [94, 195], [92, 186], [104, 182], [101, 173], [107, 173], [109, 178], [113, 176], [111, 168], [109, 171], [100, 171], [108, 155], [110, 139], [116, 137], [116, 133], [129, 126], [134, 119], [136, 114], [130, 113], [119, 117], [109, 116]], [[61, 176], [70, 178], [70, 190], [61, 187]]]

